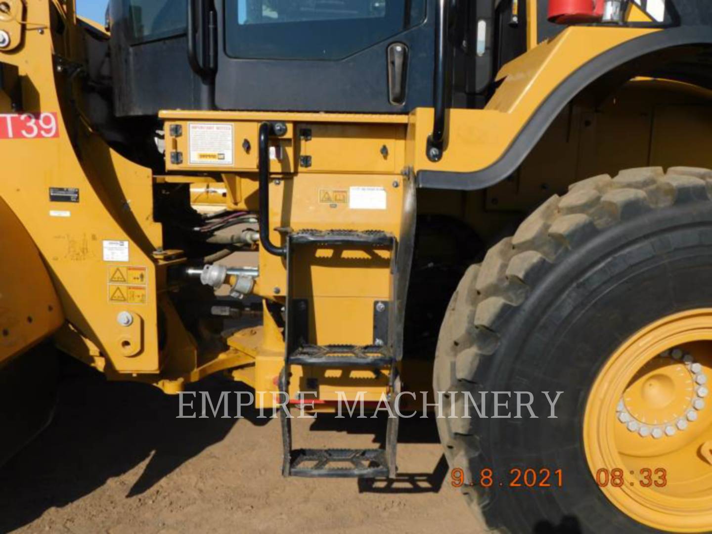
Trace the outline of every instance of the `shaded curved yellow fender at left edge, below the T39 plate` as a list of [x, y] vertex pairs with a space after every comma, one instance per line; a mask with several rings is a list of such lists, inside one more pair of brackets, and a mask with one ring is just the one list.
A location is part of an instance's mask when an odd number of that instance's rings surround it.
[[0, 199], [0, 365], [54, 333], [64, 322], [37, 247]]

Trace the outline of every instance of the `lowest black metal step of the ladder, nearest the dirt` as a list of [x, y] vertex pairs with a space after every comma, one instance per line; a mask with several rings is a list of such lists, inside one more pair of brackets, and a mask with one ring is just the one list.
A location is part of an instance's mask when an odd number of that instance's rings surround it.
[[297, 449], [291, 454], [291, 476], [377, 478], [388, 473], [382, 449]]

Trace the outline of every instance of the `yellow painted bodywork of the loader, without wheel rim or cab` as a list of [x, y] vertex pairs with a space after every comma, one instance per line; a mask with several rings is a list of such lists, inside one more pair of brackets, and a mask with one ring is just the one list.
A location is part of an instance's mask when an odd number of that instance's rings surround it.
[[[27, 245], [9, 246], [28, 254], [34, 246], [43, 261], [40, 266], [35, 256], [35, 261], [11, 256], [2, 267], [3, 283], [12, 281], [9, 287], [21, 285], [33, 295], [23, 303], [26, 308], [9, 306], [13, 311], [8, 324], [18, 325], [23, 340], [16, 347], [28, 347], [63, 321], [56, 335], [63, 350], [112, 379], [141, 380], [166, 392], [179, 392], [184, 384], [225, 370], [258, 391], [274, 391], [284, 343], [281, 328], [265, 313], [262, 326], [234, 333], [223, 350], [199, 349], [170, 298], [174, 288], [167, 273], [186, 258], [182, 251], [164, 250], [162, 225], [153, 212], [156, 184], [192, 184], [196, 206], [255, 210], [257, 151], [244, 147], [257, 146], [262, 122], [282, 121], [286, 133], [271, 141], [273, 242], [281, 242], [279, 229], [286, 228], [379, 228], [400, 236], [420, 172], [476, 172], [496, 163], [545, 100], [577, 70], [616, 46], [661, 31], [575, 26], [538, 43], [536, 18], [531, 17], [529, 49], [498, 73], [498, 88], [486, 107], [448, 111], [446, 150], [437, 163], [426, 158], [431, 108], [409, 115], [166, 110], [160, 115], [166, 132], [166, 172], [155, 175], [112, 150], [83, 119], [81, 98], [63, 67], [84, 61], [85, 36], [73, 2], [7, 3], [11, 15], [0, 17], [0, 29], [9, 32], [14, 46], [0, 51], [5, 79], [15, 73], [23, 113], [56, 117], [56, 135], [0, 141], [1, 214], [9, 221], [3, 228], [20, 225], [26, 231], [4, 230], [4, 235], [11, 234], [14, 241], [29, 236], [24, 238]], [[536, 8], [535, 2], [529, 4]], [[629, 17], [644, 19], [636, 10]], [[63, 20], [62, 33], [56, 31], [57, 18]], [[602, 107], [585, 101], [562, 103], [563, 111], [551, 117], [552, 126], [541, 132], [542, 139], [513, 178], [474, 192], [419, 192], [418, 211], [454, 215], [488, 236], [567, 181], [619, 167], [622, 161], [666, 164], [684, 152], [688, 161], [711, 164], [708, 151], [689, 144], [689, 137], [709, 133], [710, 96], [684, 84], [634, 80]], [[0, 92], [0, 112], [14, 113], [7, 92]], [[191, 162], [190, 132], [195, 125], [229, 125], [234, 162], [211, 164], [211, 155], [204, 162]], [[178, 131], [174, 127], [182, 134], [172, 135]], [[310, 135], [304, 135], [307, 131]], [[667, 135], [671, 131], [676, 134]], [[623, 140], [626, 150], [609, 150]], [[172, 159], [172, 154], [182, 159]], [[550, 169], [554, 161], [556, 169]], [[78, 192], [79, 201], [53, 200], [55, 189]], [[354, 196], [363, 194], [377, 209], [359, 208], [363, 200]], [[315, 247], [308, 256], [308, 261], [295, 264], [298, 289], [291, 296], [309, 301], [310, 339], [322, 345], [370, 342], [373, 303], [393, 296], [390, 253]], [[14, 282], [18, 266], [21, 278], [33, 283]], [[261, 250], [258, 266], [256, 295], [283, 303], [283, 258]], [[16, 299], [11, 296], [10, 302]], [[132, 318], [130, 327], [120, 324], [122, 313]], [[29, 316], [36, 317], [31, 324]], [[10, 352], [14, 350], [19, 349]], [[2, 352], [3, 357], [8, 356]], [[293, 372], [300, 374], [298, 368]], [[427, 374], [420, 368], [417, 373]], [[323, 382], [323, 399], [334, 399], [342, 387], [363, 389], [363, 373], [351, 375]], [[387, 380], [370, 377], [367, 390], [377, 398]], [[428, 380], [414, 380], [419, 381]]]

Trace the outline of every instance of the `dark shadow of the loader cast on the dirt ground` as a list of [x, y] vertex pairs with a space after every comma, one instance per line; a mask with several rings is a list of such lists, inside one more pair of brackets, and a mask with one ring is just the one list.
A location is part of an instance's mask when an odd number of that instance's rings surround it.
[[[211, 393], [239, 391], [243, 384], [212, 377], [192, 389]], [[195, 404], [197, 407], [198, 404]], [[61, 382], [53, 422], [17, 456], [0, 467], [0, 533], [62, 508], [130, 471], [148, 459], [127, 489], [127, 498], [149, 491], [162, 478], [210, 446], [223, 441], [234, 425], [276, 424], [260, 412], [242, 409], [241, 419], [177, 419], [178, 399], [145, 384], [108, 382], [89, 367], [61, 357]], [[385, 420], [334, 419], [320, 415], [311, 431], [371, 434], [384, 440]], [[435, 443], [434, 419], [404, 420], [401, 443]], [[377, 445], [375, 445], [377, 446]], [[395, 480], [360, 480], [360, 492], [437, 492], [446, 476], [444, 459], [433, 473], [401, 473]], [[356, 482], [355, 482], [356, 483]]]

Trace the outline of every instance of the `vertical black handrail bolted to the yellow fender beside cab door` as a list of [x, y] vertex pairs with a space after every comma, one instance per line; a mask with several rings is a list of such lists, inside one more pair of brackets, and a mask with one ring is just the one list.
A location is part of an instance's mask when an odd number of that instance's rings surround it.
[[449, 24], [451, 0], [437, 0], [435, 14], [435, 72], [433, 78], [433, 132], [428, 137], [426, 155], [431, 162], [439, 162], [445, 145], [445, 112], [449, 66]]

